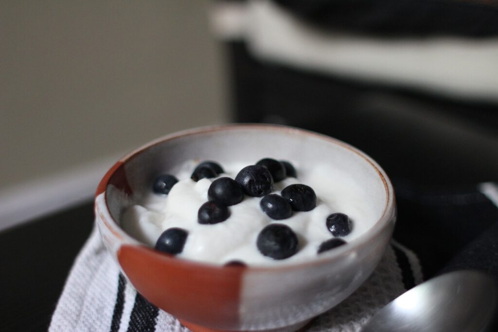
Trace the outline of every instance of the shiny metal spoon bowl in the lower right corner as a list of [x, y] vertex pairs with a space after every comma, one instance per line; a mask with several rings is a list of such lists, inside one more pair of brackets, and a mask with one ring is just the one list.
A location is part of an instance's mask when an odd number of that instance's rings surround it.
[[497, 314], [495, 280], [481, 272], [456, 271], [394, 299], [373, 315], [362, 332], [498, 331]]

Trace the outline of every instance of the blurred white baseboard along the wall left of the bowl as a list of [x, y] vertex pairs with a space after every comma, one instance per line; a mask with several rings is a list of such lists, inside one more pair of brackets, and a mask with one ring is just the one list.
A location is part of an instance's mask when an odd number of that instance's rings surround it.
[[0, 190], [0, 231], [91, 200], [99, 181], [123, 155]]

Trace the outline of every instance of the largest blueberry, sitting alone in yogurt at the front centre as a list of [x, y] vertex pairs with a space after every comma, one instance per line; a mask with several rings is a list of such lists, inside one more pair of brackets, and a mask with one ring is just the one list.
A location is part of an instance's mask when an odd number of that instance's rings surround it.
[[273, 259], [285, 259], [297, 252], [297, 236], [289, 226], [270, 224], [257, 236], [256, 245], [261, 254]]

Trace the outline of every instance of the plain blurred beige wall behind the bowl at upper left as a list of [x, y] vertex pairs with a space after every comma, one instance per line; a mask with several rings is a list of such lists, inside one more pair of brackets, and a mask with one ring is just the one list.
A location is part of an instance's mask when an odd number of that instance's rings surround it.
[[226, 121], [209, 1], [0, 1], [0, 189]]

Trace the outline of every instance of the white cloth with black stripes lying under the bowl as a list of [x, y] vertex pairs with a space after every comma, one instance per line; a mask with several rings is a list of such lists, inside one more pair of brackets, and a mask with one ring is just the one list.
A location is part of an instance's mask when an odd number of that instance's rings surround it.
[[[339, 306], [314, 320], [308, 331], [359, 331], [373, 313], [421, 281], [415, 254], [392, 241], [370, 279]], [[133, 289], [94, 229], [71, 270], [49, 331], [189, 330]]]

